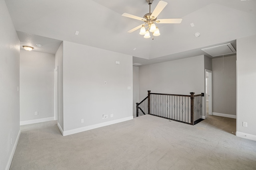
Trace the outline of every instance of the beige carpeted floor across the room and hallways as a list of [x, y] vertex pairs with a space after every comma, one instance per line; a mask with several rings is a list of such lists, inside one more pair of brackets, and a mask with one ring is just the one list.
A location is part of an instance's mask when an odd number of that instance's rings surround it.
[[63, 137], [56, 121], [21, 126], [10, 170], [256, 170], [236, 119], [197, 125], [152, 115]]

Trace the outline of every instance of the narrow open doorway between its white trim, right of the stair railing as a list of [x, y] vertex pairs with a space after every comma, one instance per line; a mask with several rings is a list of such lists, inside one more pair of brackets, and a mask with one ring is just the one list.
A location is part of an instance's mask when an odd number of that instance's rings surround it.
[[205, 70], [205, 118], [212, 115], [212, 71]]

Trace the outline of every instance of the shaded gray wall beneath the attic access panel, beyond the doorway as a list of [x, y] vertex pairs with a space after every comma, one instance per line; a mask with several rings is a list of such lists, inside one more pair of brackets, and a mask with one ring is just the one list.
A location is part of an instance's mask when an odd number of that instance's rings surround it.
[[212, 112], [236, 115], [236, 56], [212, 59]]

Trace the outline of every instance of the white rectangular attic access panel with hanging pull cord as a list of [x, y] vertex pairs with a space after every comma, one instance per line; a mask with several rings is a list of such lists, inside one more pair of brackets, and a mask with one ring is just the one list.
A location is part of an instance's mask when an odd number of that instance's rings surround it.
[[206, 52], [207, 54], [211, 55], [212, 57], [236, 53], [236, 50], [231, 45], [231, 43], [217, 45], [215, 47], [205, 48], [205, 49], [202, 49], [202, 51]]

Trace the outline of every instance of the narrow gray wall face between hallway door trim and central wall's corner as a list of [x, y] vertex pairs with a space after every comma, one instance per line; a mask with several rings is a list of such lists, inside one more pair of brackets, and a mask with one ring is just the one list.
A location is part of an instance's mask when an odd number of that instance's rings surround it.
[[58, 124], [63, 130], [63, 42], [55, 54], [56, 67], [58, 67]]

